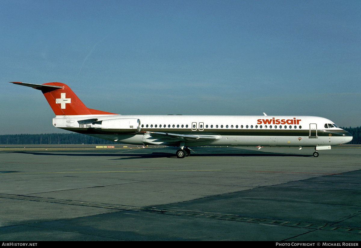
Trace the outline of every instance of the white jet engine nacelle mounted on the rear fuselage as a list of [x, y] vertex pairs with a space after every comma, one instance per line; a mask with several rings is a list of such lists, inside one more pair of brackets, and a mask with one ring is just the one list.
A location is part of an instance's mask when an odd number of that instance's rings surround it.
[[121, 119], [109, 119], [95, 121], [92, 123], [93, 127], [104, 131], [111, 132], [139, 132], [140, 131], [140, 120], [134, 118], [121, 118]]

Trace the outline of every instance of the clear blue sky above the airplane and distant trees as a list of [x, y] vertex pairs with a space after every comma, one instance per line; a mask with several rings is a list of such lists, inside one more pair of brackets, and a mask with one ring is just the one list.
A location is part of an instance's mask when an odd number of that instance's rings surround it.
[[[0, 1], [0, 134], [62, 132], [62, 82], [118, 114], [312, 115], [360, 126], [361, 1]], [[65, 132], [65, 131], [64, 131]]]

